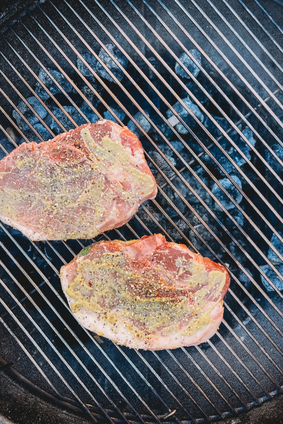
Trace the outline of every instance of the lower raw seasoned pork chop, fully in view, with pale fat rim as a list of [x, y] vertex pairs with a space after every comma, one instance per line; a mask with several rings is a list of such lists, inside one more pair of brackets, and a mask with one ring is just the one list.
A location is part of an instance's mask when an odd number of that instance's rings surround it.
[[93, 243], [61, 268], [71, 310], [85, 328], [137, 349], [205, 342], [223, 317], [222, 265], [161, 234]]

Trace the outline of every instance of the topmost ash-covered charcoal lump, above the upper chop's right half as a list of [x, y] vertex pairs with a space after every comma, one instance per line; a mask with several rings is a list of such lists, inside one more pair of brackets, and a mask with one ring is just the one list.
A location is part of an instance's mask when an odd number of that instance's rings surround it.
[[[117, 59], [118, 62], [123, 66], [123, 68], [126, 68], [128, 64], [128, 59], [126, 59], [123, 53], [120, 52], [118, 47], [112, 44], [105, 44], [105, 47], [112, 53], [115, 59]], [[102, 47], [100, 49], [98, 56], [106, 64], [106, 67], [115, 75], [115, 77], [119, 81], [122, 81], [123, 75], [124, 75], [123, 71], [120, 70], [118, 65], [115, 64], [115, 62], [110, 58], [110, 56], [106, 53], [106, 51]], [[104, 67], [99, 62], [97, 62], [96, 64], [96, 71], [98, 75], [100, 75], [102, 78], [106, 78], [108, 81], [114, 82], [113, 78], [109, 75], [109, 73], [104, 69]]]

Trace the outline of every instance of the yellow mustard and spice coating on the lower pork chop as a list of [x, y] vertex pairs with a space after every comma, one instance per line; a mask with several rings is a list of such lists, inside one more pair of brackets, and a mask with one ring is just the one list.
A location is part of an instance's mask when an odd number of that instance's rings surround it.
[[[119, 320], [140, 337], [156, 331], [165, 336], [181, 328], [182, 335], [191, 336], [210, 324], [209, 312], [216, 303], [205, 308], [205, 296], [207, 292], [215, 299], [220, 295], [226, 281], [224, 273], [207, 273], [203, 264], [181, 262], [179, 270], [184, 265], [192, 275], [177, 290], [178, 280], [171, 278], [162, 264], [155, 262], [154, 268], [146, 271], [142, 267], [133, 270], [127, 264], [125, 254], [117, 251], [79, 260], [76, 277], [66, 288], [67, 295], [76, 299], [71, 310], [97, 312], [98, 319], [114, 325], [113, 331]], [[190, 295], [189, 290], [198, 285], [199, 290]]]

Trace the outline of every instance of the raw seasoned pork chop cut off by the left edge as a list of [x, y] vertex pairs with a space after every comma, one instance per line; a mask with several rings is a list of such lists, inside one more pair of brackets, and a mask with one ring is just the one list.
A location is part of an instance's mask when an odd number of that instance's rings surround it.
[[140, 141], [108, 120], [22, 143], [0, 161], [0, 219], [31, 240], [95, 237], [156, 193]]

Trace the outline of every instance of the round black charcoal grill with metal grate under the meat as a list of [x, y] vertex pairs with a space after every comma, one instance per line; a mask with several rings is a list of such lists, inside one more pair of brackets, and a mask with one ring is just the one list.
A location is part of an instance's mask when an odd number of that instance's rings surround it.
[[[14, 390], [23, 384], [45, 408], [56, 405], [52, 422], [64, 422], [67, 414], [70, 422], [74, 416], [112, 424], [201, 423], [271, 401], [283, 391], [283, 257], [270, 241], [274, 233], [283, 242], [283, 9], [258, 0], [15, 4], [21, 14], [11, 19], [9, 11], [6, 21], [3, 14], [0, 34], [2, 157], [20, 142], [53, 138], [56, 124], [62, 132], [90, 122], [86, 110], [98, 119], [109, 111], [122, 126], [132, 121], [158, 195], [96, 241], [162, 232], [226, 266], [231, 285], [224, 320], [207, 343], [157, 352], [124, 348], [80, 327], [60, 287], [60, 267], [94, 240], [37, 243], [0, 223], [1, 381], [14, 379]], [[125, 69], [107, 43], [126, 57]], [[101, 48], [112, 70], [98, 56]], [[181, 53], [199, 69], [197, 76]], [[94, 59], [112, 81], [92, 69]], [[190, 79], [176, 73], [175, 64]], [[40, 68], [51, 88], [40, 80]], [[39, 96], [39, 84], [49, 100]], [[42, 109], [28, 102], [32, 96]], [[182, 100], [188, 96], [199, 113]], [[227, 186], [219, 182], [224, 178]], [[235, 193], [242, 196], [239, 204]], [[271, 251], [277, 262], [268, 258]], [[5, 404], [5, 384], [2, 413], [35, 422], [17, 416], [13, 396], [14, 408]]]

